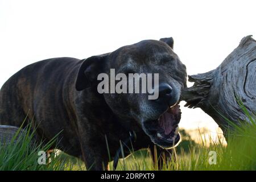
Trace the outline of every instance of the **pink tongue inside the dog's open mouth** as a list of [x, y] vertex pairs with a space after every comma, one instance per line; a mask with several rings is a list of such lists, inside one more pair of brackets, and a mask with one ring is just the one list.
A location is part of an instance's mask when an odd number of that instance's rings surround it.
[[170, 134], [172, 130], [174, 130], [174, 115], [177, 113], [178, 109], [178, 106], [174, 106], [160, 116], [159, 125], [164, 130], [165, 135]]

